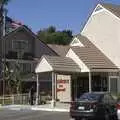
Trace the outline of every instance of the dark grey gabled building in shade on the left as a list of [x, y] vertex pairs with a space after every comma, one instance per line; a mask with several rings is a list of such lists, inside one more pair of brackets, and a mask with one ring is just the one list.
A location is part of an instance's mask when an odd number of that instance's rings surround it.
[[[22, 77], [22, 92], [28, 92], [32, 85], [36, 86], [35, 66], [42, 55], [57, 55], [26, 26], [21, 25], [9, 31], [0, 40], [2, 64], [6, 64], [10, 72], [15, 73], [19, 64]], [[5, 46], [5, 50], [4, 50]], [[18, 66], [17, 66], [18, 67]], [[9, 93], [7, 82], [5, 94]], [[3, 79], [0, 80], [0, 94], [3, 92]]]

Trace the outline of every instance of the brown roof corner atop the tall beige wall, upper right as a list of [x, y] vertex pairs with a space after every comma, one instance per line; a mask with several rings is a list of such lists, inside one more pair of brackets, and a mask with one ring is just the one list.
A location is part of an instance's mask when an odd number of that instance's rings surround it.
[[110, 3], [101, 3], [101, 5], [120, 18], [120, 5], [115, 5]]

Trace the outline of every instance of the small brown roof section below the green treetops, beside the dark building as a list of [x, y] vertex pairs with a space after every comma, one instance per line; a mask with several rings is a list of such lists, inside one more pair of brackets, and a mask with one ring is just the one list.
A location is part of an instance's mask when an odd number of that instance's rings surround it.
[[68, 45], [56, 45], [56, 44], [48, 44], [48, 46], [53, 49], [59, 56], [65, 57], [70, 46]]

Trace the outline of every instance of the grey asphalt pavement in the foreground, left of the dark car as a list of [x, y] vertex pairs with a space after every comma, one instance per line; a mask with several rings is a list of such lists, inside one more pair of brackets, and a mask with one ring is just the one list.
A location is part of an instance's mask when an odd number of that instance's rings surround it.
[[70, 120], [68, 112], [0, 110], [0, 120]]

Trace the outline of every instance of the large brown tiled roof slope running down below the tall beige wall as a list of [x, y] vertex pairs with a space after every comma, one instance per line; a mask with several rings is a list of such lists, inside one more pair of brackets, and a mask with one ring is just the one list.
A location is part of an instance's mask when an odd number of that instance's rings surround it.
[[72, 47], [72, 50], [89, 69], [117, 69], [115, 64], [86, 37], [81, 35], [77, 37], [84, 47]]

